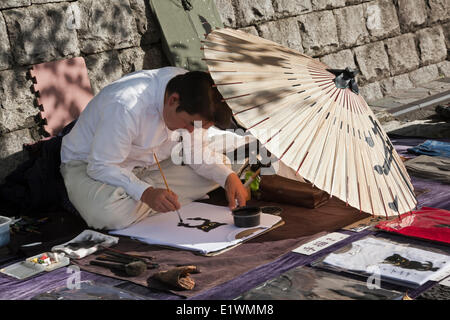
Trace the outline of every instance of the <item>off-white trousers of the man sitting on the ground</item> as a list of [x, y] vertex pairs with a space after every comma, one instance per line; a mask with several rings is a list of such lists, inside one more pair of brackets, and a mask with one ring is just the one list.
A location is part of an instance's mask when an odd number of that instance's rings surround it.
[[[191, 167], [173, 164], [171, 159], [161, 161], [160, 165], [170, 189], [178, 195], [182, 206], [203, 198], [219, 187], [219, 184], [198, 175]], [[142, 201], [131, 198], [122, 187], [92, 179], [86, 167], [84, 161], [70, 161], [61, 164], [60, 171], [70, 201], [89, 227], [122, 229], [157, 213]], [[166, 189], [157, 167], [156, 170], [136, 168], [133, 172], [154, 188]]]

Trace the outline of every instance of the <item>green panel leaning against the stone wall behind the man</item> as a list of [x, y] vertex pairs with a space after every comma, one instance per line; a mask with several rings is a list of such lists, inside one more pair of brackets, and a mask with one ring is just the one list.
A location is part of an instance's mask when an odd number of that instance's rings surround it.
[[173, 66], [190, 71], [208, 68], [201, 39], [223, 28], [214, 0], [149, 0], [163, 35], [163, 50]]

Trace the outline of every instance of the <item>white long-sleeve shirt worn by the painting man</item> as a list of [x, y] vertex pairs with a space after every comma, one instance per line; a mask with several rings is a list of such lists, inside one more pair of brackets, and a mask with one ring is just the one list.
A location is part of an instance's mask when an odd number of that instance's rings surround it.
[[[176, 132], [163, 120], [164, 93], [169, 80], [187, 70], [165, 67], [131, 73], [103, 88], [80, 114], [75, 126], [63, 137], [61, 162], [87, 162], [87, 174], [98, 181], [124, 188], [135, 200], [151, 185], [139, 180], [135, 167], [158, 170], [159, 161], [171, 157], [179, 142]], [[203, 159], [209, 163], [188, 163], [199, 175], [224, 187], [233, 171], [223, 164], [222, 155], [207, 146], [206, 130], [194, 131], [189, 141], [202, 146]], [[183, 135], [184, 137], [185, 135]], [[185, 141], [185, 140], [184, 140]], [[198, 153], [191, 150], [191, 159]], [[211, 163], [211, 158], [216, 163]], [[217, 163], [217, 162], [221, 163]], [[193, 161], [191, 161], [193, 162]]]

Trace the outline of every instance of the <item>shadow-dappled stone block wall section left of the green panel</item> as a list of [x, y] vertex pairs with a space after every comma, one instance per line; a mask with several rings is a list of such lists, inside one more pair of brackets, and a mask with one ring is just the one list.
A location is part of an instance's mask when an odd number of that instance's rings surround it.
[[27, 70], [84, 57], [94, 93], [123, 75], [169, 63], [147, 0], [0, 1], [0, 180], [42, 139]]

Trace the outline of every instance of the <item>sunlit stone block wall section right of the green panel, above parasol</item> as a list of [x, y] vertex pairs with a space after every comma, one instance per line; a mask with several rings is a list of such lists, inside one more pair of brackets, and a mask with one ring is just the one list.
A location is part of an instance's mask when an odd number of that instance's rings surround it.
[[332, 68], [358, 68], [366, 100], [450, 77], [448, 0], [216, 0], [224, 24]]

